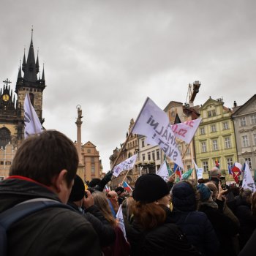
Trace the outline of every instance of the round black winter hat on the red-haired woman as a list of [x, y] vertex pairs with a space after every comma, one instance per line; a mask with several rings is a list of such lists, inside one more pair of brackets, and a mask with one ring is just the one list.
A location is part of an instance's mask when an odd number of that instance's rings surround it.
[[136, 201], [152, 203], [169, 194], [166, 182], [157, 174], [148, 173], [135, 182], [132, 196]]

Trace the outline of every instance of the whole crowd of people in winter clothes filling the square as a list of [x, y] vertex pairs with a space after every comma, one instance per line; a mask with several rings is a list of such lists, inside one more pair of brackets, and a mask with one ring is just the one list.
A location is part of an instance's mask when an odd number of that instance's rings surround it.
[[0, 214], [31, 200], [69, 207], [42, 208], [13, 223], [7, 255], [255, 255], [256, 194], [223, 189], [217, 167], [199, 182], [146, 174], [130, 193], [121, 184], [105, 191], [111, 172], [85, 189], [77, 169], [77, 150], [61, 132], [24, 140], [0, 183]]

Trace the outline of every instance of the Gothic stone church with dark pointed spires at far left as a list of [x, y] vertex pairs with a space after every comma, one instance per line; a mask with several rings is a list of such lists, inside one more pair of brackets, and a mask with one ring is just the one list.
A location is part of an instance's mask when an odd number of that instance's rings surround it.
[[[23, 72], [23, 75], [22, 75]], [[10, 89], [10, 80], [3, 81], [4, 86], [0, 89], [0, 149], [11, 144], [14, 148], [20, 145], [24, 139], [24, 100], [29, 93], [31, 104], [41, 121], [42, 118], [42, 92], [45, 89], [45, 70], [42, 76], [39, 72], [39, 59], [34, 57], [33, 29], [31, 30], [31, 42], [26, 59], [25, 51], [23, 63], [18, 69], [18, 78], [15, 86], [15, 94]], [[1, 163], [0, 163], [1, 169]]]

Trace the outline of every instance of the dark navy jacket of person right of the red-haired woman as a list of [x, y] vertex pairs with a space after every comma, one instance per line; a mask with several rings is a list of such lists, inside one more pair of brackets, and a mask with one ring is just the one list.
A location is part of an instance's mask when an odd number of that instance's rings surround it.
[[188, 241], [202, 255], [216, 255], [219, 240], [206, 214], [200, 211], [178, 211], [174, 208], [170, 221], [181, 227]]

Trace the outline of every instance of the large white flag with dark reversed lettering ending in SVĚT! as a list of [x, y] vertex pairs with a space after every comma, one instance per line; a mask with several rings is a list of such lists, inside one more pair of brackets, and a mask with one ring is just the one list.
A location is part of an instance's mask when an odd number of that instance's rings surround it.
[[132, 133], [145, 135], [147, 143], [158, 145], [165, 152], [166, 157], [184, 168], [169, 118], [165, 111], [161, 110], [150, 98], [146, 99]]

